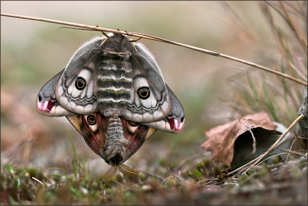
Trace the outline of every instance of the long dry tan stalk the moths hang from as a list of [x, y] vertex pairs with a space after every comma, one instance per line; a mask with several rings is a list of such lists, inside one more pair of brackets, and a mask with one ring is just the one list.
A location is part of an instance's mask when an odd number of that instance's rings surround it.
[[124, 34], [124, 35], [128, 35], [128, 36], [141, 37], [141, 38], [144, 38], [144, 39], [150, 39], [150, 40], [160, 41], [160, 42], [169, 43], [169, 44], [175, 44], [175, 45], [178, 45], [178, 46], [182, 46], [182, 47], [185, 47], [185, 48], [190, 48], [190, 49], [196, 50], [198, 52], [207, 53], [207, 54], [210, 54], [210, 55], [213, 55], [213, 56], [216, 56], [216, 57], [223, 57], [223, 58], [230, 59], [230, 60], [233, 60], [233, 61], [238, 61], [238, 62], [241, 62], [243, 64], [250, 65], [250, 66], [253, 66], [253, 67], [256, 67], [256, 68], [259, 68], [259, 69], [263, 69], [263, 70], [268, 71], [270, 73], [279, 75], [281, 77], [290, 79], [294, 82], [297, 82], [299, 84], [307, 86], [307, 82], [305, 82], [305, 81], [302, 81], [298, 78], [294, 78], [294, 77], [287, 75], [287, 74], [283, 74], [282, 72], [276, 71], [274, 69], [270, 69], [270, 68], [267, 68], [265, 66], [261, 66], [261, 65], [252, 63], [250, 61], [245, 61], [245, 60], [242, 60], [242, 59], [239, 59], [239, 58], [236, 58], [236, 57], [231, 57], [231, 56], [228, 56], [228, 55], [225, 55], [225, 54], [213, 52], [213, 51], [206, 50], [206, 49], [203, 49], [203, 48], [190, 46], [190, 45], [187, 45], [187, 44], [181, 44], [181, 43], [177, 43], [177, 42], [174, 42], [174, 41], [165, 40], [165, 39], [162, 39], [162, 38], [159, 38], [159, 37], [156, 37], [156, 36], [151, 36], [151, 35], [141, 34], [141, 33], [136, 33], [136, 32], [119, 31], [119, 30], [114, 30], [114, 29], [107, 29], [107, 28], [102, 28], [102, 27], [95, 27], [95, 26], [89, 26], [89, 25], [79, 24], [79, 23], [71, 23], [71, 22], [66, 22], [66, 21], [58, 21], [58, 20], [52, 20], [52, 19], [43, 19], [43, 18], [37, 18], [37, 17], [22, 16], [22, 15], [13, 15], [13, 14], [1, 13], [1, 16], [15, 17], [15, 18], [21, 18], [21, 19], [30, 19], [30, 20], [36, 20], [36, 21], [44, 21], [44, 22], [50, 22], [50, 23], [58, 23], [58, 24], [63, 24], [63, 25], [68, 25], [68, 26], [75, 26], [75, 27], [92, 29], [92, 30], [95, 30], [95, 31], [112, 32], [112, 33]]

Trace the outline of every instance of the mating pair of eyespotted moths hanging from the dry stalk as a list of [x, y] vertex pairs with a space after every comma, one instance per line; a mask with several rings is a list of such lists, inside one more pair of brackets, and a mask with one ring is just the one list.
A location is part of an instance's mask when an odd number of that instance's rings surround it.
[[39, 91], [36, 109], [45, 116], [66, 116], [87, 145], [111, 165], [103, 179], [156, 130], [178, 133], [184, 109], [164, 82], [154, 56], [141, 43], [112, 34], [84, 43], [65, 69]]

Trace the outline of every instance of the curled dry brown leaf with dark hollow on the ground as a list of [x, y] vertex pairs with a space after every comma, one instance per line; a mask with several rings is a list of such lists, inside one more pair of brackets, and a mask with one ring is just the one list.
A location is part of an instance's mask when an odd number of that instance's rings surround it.
[[[201, 146], [212, 151], [211, 161], [233, 167], [266, 151], [279, 133], [275, 131], [276, 127], [265, 112], [246, 115], [205, 132], [208, 140]], [[256, 151], [251, 133], [256, 139]]]

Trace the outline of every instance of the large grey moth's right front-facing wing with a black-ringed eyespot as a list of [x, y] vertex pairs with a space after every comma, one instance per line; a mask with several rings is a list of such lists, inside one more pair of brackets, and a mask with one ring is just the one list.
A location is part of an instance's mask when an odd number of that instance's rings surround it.
[[154, 56], [143, 44], [133, 44], [139, 54], [132, 54], [133, 83], [127, 110], [122, 115], [134, 122], [154, 122], [164, 119], [171, 103], [163, 75]]

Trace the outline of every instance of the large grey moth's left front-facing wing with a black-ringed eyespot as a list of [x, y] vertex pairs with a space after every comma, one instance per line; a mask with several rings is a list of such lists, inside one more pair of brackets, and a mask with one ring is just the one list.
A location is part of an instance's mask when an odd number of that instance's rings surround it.
[[106, 37], [95, 37], [84, 43], [71, 57], [55, 89], [60, 105], [77, 114], [98, 111], [96, 92], [97, 74]]

